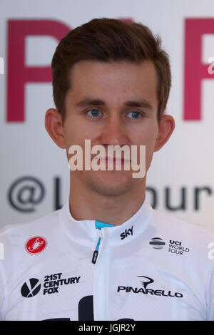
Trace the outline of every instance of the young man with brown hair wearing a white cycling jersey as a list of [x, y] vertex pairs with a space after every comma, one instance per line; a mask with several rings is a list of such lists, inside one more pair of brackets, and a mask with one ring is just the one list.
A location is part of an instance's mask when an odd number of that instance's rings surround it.
[[[175, 127], [163, 115], [170, 65], [160, 38], [141, 24], [93, 19], [61, 40], [52, 68], [56, 109], [45, 125], [68, 161], [78, 145], [85, 166], [85, 140], [105, 149], [104, 167], [110, 145], [136, 145], [138, 162], [146, 145], [147, 172]], [[214, 237], [153, 210], [146, 175], [111, 160], [113, 170], [70, 170], [61, 210], [1, 231], [1, 319], [214, 319]]]

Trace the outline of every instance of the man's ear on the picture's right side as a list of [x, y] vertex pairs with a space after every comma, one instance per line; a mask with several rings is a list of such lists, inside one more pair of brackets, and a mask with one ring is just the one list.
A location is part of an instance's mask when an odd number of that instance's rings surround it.
[[170, 135], [172, 135], [174, 129], [175, 120], [173, 119], [173, 117], [171, 115], [162, 115], [154, 151], [160, 150], [163, 145], [165, 145], [165, 143], [170, 138]]

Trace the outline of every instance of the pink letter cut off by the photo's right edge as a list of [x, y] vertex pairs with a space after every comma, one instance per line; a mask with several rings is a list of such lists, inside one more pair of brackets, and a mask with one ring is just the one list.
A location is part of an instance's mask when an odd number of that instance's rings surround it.
[[214, 79], [208, 64], [202, 63], [202, 38], [207, 33], [214, 33], [214, 19], [185, 19], [184, 120], [201, 120], [201, 83]]

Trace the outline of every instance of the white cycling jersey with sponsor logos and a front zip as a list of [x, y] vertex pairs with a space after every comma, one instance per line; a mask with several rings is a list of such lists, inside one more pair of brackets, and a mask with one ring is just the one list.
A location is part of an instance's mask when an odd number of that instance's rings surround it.
[[214, 234], [146, 200], [108, 227], [74, 220], [67, 199], [0, 242], [1, 320], [214, 320]]

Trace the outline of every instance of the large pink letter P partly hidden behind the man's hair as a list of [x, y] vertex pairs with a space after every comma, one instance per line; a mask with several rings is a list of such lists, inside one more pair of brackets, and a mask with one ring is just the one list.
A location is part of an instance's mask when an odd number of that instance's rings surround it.
[[24, 122], [25, 83], [52, 81], [51, 66], [25, 65], [26, 36], [53, 36], [58, 41], [71, 29], [53, 20], [9, 20], [7, 62], [7, 122]]

